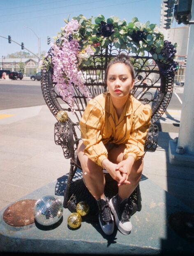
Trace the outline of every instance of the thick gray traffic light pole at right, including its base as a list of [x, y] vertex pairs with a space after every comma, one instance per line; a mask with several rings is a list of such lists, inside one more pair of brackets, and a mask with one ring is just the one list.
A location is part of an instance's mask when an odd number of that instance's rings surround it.
[[[194, 17], [194, 3], [192, 18]], [[184, 95], [178, 138], [169, 141], [169, 161], [174, 165], [194, 167], [194, 25], [190, 25]]]

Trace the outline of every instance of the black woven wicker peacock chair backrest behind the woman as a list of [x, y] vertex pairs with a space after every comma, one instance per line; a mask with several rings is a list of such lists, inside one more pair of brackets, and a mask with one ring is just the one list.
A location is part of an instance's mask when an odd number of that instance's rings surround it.
[[[116, 55], [125, 52], [132, 57], [134, 69], [136, 71], [135, 84], [132, 94], [143, 104], [150, 104], [152, 107], [152, 123], [155, 123], [164, 114], [173, 92], [173, 76], [165, 76], [162, 70], [167, 69], [168, 64], [157, 62], [153, 59], [152, 52], [147, 52], [146, 56], [132, 54], [127, 50], [115, 49], [109, 44], [106, 48], [100, 49], [98, 54], [92, 57], [92, 63], [89, 66], [83, 66], [81, 71], [85, 78], [85, 85], [90, 91], [91, 97], [95, 97], [102, 92], [106, 92], [106, 84], [104, 83], [104, 74], [107, 64]], [[48, 57], [52, 58], [52, 48], [48, 52]], [[53, 82], [53, 68], [49, 70], [42, 69], [41, 72], [42, 92], [46, 104], [52, 114], [56, 114], [60, 110], [71, 111], [67, 102], [62, 100], [56, 89], [56, 83]], [[83, 96], [79, 87], [74, 86], [75, 92], [75, 115], [77, 121], [80, 120], [88, 99]]]

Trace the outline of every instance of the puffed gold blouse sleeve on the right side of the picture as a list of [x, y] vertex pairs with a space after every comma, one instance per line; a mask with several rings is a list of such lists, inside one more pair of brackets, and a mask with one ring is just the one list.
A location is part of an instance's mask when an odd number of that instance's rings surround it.
[[133, 156], [135, 160], [144, 154], [144, 143], [148, 133], [151, 119], [150, 105], [144, 105], [140, 113], [134, 114], [129, 140], [125, 144], [124, 156]]

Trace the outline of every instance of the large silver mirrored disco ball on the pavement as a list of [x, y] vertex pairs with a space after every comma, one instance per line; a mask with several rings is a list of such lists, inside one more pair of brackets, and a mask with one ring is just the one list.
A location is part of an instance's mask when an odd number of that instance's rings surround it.
[[58, 197], [47, 195], [37, 200], [34, 207], [35, 220], [44, 226], [57, 223], [62, 217], [63, 205]]

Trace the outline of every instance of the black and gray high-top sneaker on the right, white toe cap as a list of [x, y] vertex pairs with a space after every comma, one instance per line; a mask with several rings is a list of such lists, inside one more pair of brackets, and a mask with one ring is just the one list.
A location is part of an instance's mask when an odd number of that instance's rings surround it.
[[120, 199], [118, 194], [111, 198], [109, 201], [111, 211], [115, 216], [115, 223], [118, 230], [124, 235], [128, 235], [132, 230], [131, 218], [131, 208], [128, 204], [128, 199]]

